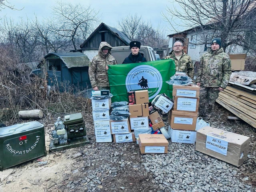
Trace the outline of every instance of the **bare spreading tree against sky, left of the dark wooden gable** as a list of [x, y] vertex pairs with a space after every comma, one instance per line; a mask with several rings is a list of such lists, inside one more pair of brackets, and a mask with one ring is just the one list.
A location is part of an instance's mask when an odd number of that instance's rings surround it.
[[99, 21], [99, 11], [90, 6], [85, 8], [81, 4], [57, 2], [52, 8], [53, 18], [48, 19], [51, 30], [56, 34], [71, 40], [75, 51], [89, 36], [95, 23]]

